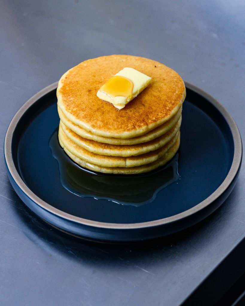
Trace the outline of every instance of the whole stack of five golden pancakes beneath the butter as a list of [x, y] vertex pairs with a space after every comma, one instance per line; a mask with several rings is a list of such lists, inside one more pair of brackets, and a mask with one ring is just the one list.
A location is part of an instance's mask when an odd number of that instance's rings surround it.
[[[96, 93], [124, 67], [152, 82], [123, 109]], [[140, 174], [168, 162], [180, 143], [183, 80], [153, 60], [129, 55], [90, 59], [68, 70], [57, 88], [59, 143], [82, 167], [111, 174]]]

